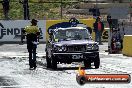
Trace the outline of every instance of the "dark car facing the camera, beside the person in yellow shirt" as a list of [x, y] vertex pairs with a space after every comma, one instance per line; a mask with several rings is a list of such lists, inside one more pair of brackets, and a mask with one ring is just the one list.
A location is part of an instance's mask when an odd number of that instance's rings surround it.
[[47, 68], [56, 69], [58, 63], [84, 62], [85, 67], [99, 68], [99, 46], [83, 27], [51, 29], [46, 44]]

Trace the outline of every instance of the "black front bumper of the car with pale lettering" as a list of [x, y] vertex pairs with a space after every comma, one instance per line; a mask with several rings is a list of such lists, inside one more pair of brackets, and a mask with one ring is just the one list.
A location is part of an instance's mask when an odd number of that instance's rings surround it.
[[99, 52], [76, 52], [76, 53], [53, 53], [59, 62], [80, 62], [84, 60], [91, 60], [99, 56]]

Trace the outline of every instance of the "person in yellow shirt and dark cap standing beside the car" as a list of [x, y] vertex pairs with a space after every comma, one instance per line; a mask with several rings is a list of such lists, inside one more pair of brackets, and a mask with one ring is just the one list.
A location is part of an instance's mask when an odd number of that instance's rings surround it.
[[31, 25], [25, 27], [25, 29], [22, 31], [23, 34], [26, 34], [27, 49], [29, 52], [29, 66], [31, 70], [36, 69], [36, 48], [37, 42], [39, 41], [38, 36], [40, 35], [37, 22], [38, 22], [37, 20], [32, 19]]

